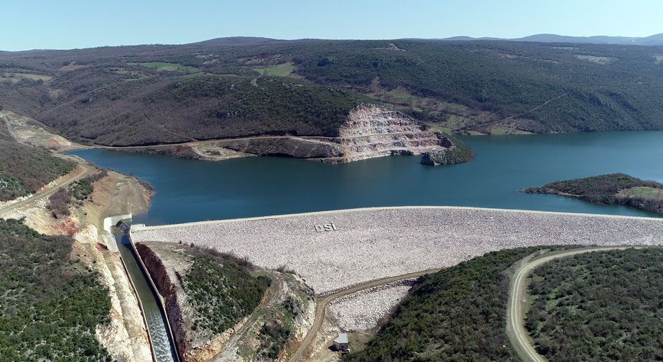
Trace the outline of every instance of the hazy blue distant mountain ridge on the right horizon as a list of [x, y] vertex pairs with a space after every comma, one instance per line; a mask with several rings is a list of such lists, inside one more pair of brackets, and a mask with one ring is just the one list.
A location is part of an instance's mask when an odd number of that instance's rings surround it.
[[590, 44], [615, 44], [631, 46], [663, 46], [663, 33], [654, 34], [649, 37], [608, 37], [596, 35], [593, 37], [570, 37], [558, 34], [535, 34], [522, 38], [493, 38], [493, 37], [450, 37], [437, 39], [441, 41], [472, 41], [472, 40], [503, 40], [503, 41], [532, 41], [537, 43], [590, 43]]

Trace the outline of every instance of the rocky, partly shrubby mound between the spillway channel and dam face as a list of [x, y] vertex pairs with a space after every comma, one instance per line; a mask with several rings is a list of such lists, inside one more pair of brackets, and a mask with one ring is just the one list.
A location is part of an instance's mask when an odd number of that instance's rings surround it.
[[310, 323], [313, 292], [294, 275], [193, 244], [136, 248], [164, 296], [182, 361], [282, 361], [301, 338], [298, 328]]

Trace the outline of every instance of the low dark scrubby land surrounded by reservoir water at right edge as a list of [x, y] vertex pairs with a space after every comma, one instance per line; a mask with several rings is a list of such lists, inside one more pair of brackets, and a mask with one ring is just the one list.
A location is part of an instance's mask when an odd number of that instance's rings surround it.
[[604, 205], [626, 205], [663, 213], [663, 184], [628, 174], [603, 174], [584, 179], [548, 183], [541, 188], [521, 190], [528, 194], [558, 194]]

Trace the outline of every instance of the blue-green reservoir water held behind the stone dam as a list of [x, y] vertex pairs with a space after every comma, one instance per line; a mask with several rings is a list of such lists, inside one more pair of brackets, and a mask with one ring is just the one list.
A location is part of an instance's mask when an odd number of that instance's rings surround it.
[[427, 166], [419, 157], [332, 165], [280, 157], [222, 162], [108, 150], [70, 152], [151, 183], [150, 225], [383, 205], [463, 205], [655, 216], [521, 188], [624, 172], [663, 181], [663, 132], [467, 137], [470, 163]]

